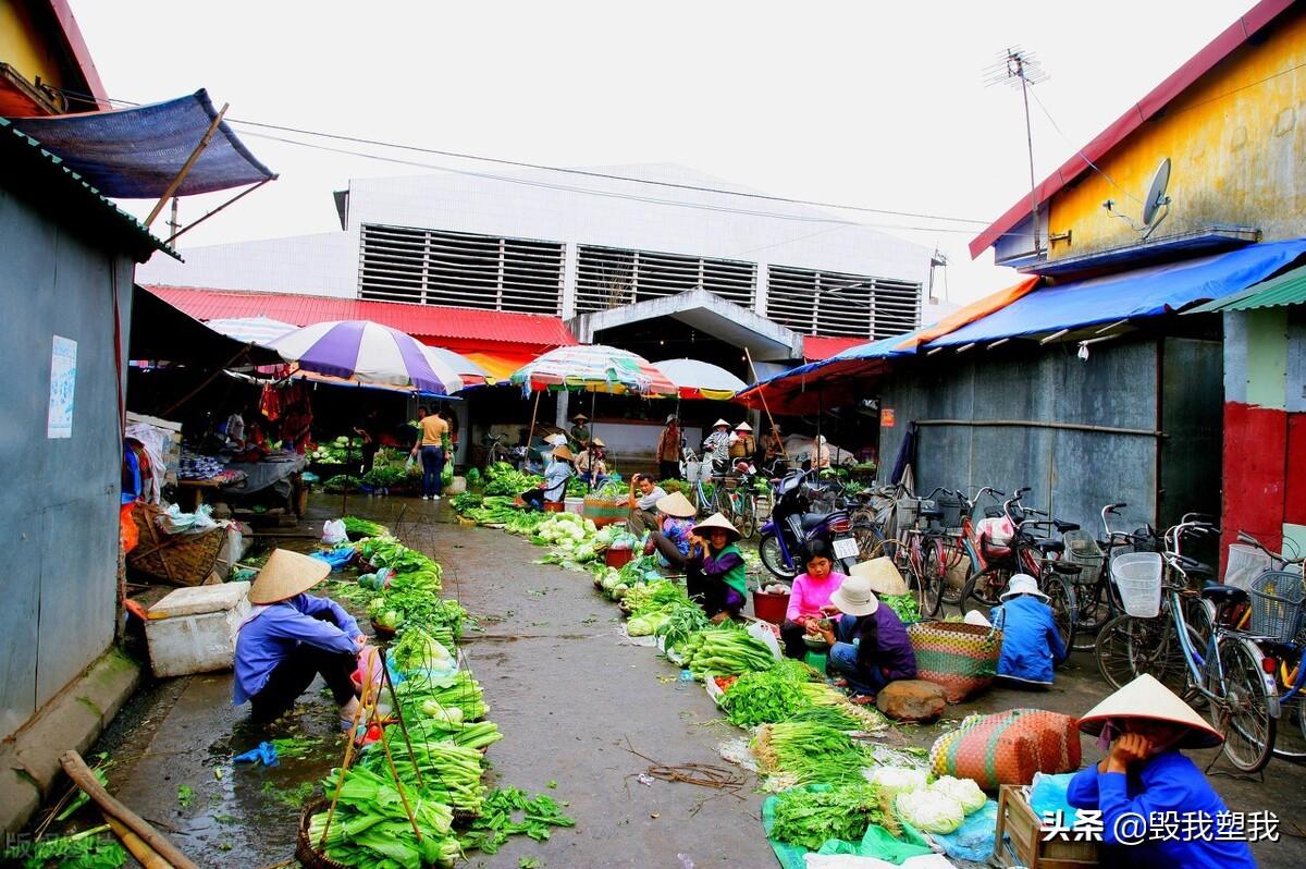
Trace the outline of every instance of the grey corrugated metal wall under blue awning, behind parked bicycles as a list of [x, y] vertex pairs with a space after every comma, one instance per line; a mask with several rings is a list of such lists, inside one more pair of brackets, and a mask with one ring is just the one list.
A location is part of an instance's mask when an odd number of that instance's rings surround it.
[[[1175, 340], [1165, 338], [1169, 348]], [[1187, 438], [1218, 431], [1220, 345], [1183, 341], [1162, 354], [1174, 376], [1166, 379], [1166, 423]], [[895, 426], [880, 430], [884, 473], [893, 467], [912, 421], [1037, 421], [1157, 429], [1157, 341], [1094, 345], [1089, 359], [1076, 346], [1000, 348], [952, 353], [900, 363], [880, 389], [882, 408]], [[1215, 366], [1213, 374], [1209, 372]], [[1186, 374], [1187, 372], [1187, 374]], [[1211, 397], [1213, 395], [1213, 399]], [[1218, 450], [1166, 439], [1162, 461], [1168, 486], [1188, 498], [1200, 486], [1218, 498]], [[1218, 440], [1213, 442], [1218, 443]], [[1158, 521], [1170, 508], [1157, 504], [1157, 438], [1140, 434], [1077, 431], [1030, 426], [922, 425], [918, 434], [917, 491], [935, 486], [1030, 486], [1025, 503], [1059, 519], [1101, 529], [1102, 504], [1126, 502], [1126, 519]], [[1200, 486], [1192, 481], [1200, 481]], [[1200, 510], [1200, 504], [1182, 510]]]

